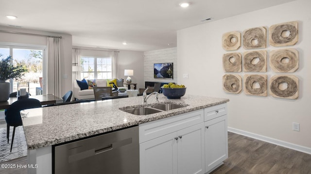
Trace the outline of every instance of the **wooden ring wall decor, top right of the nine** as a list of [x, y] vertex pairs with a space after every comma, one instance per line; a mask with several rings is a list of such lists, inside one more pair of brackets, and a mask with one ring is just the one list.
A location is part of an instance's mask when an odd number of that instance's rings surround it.
[[288, 46], [298, 42], [298, 22], [285, 22], [269, 28], [269, 43], [272, 46]]

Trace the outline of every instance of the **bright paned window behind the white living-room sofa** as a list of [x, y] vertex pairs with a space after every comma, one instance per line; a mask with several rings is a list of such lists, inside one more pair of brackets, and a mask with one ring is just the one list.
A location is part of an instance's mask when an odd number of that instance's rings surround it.
[[81, 77], [85, 79], [111, 79], [112, 59], [81, 56]]

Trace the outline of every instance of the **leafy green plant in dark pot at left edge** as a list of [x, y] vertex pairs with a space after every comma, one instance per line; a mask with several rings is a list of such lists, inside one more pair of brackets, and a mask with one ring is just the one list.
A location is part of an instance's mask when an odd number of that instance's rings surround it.
[[[2, 56], [3, 55], [0, 54], [0, 57]], [[8, 56], [0, 60], [0, 102], [7, 101], [10, 96], [10, 83], [5, 81], [11, 78], [17, 80], [27, 72], [27, 69], [22, 65], [10, 65], [11, 59], [12, 56]]]

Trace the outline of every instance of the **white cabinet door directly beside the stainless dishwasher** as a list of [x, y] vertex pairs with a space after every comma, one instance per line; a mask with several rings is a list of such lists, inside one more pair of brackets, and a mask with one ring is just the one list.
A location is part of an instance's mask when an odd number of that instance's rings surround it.
[[139, 145], [140, 174], [177, 174], [177, 132]]

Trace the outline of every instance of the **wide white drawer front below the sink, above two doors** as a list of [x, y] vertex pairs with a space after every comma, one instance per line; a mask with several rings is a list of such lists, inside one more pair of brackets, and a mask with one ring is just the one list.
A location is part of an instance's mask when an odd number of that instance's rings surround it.
[[139, 143], [178, 131], [204, 120], [204, 110], [192, 111], [139, 125]]

